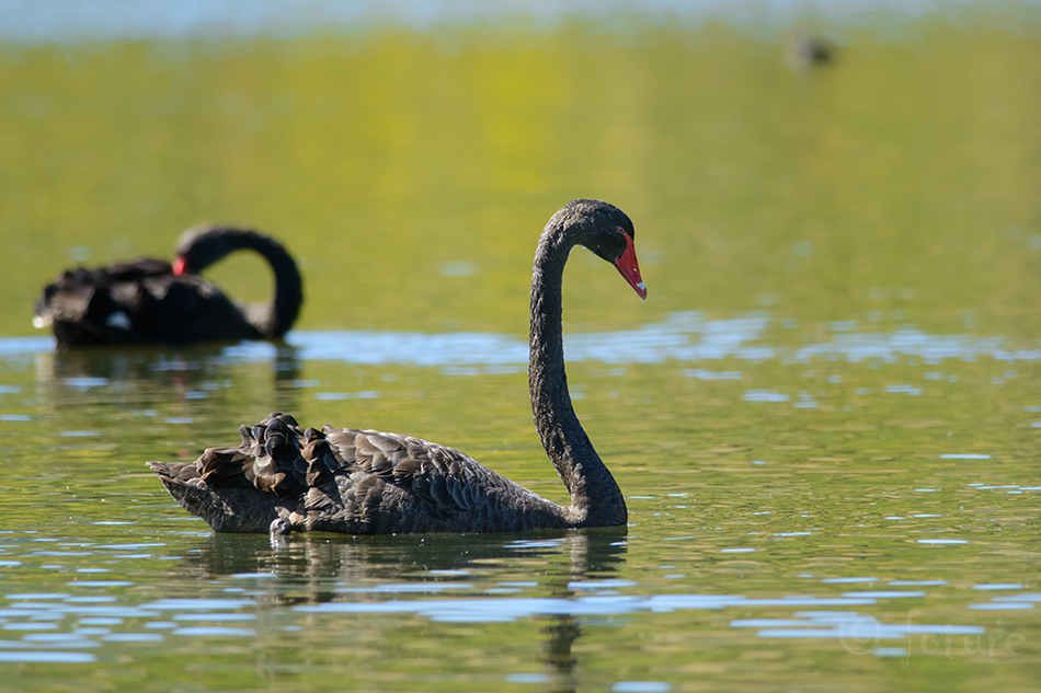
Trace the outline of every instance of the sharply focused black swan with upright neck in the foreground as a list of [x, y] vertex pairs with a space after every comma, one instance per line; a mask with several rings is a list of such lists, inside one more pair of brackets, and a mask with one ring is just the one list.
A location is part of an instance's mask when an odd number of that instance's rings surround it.
[[549, 220], [535, 255], [528, 384], [542, 446], [571, 493], [568, 507], [451, 448], [375, 430], [302, 430], [286, 414], [242, 426], [238, 448], [210, 448], [195, 462], [148, 464], [178, 503], [217, 532], [510, 532], [625, 524], [621, 490], [568, 393], [561, 280], [571, 249], [584, 245], [647, 298], [633, 235], [632, 222], [617, 207], [577, 199]]

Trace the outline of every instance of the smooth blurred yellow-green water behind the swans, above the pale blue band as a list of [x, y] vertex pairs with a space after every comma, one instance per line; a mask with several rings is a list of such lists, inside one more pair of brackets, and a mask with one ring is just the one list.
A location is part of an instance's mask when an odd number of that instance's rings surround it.
[[[769, 309], [1032, 339], [1041, 12], [1006, 10], [819, 20], [833, 60], [796, 68], [798, 25], [722, 20], [8, 43], [0, 334], [61, 268], [204, 221], [287, 243], [299, 328], [524, 334], [538, 232], [599, 197], [650, 298], [572, 263], [576, 330]], [[210, 277], [270, 291], [249, 257]]]

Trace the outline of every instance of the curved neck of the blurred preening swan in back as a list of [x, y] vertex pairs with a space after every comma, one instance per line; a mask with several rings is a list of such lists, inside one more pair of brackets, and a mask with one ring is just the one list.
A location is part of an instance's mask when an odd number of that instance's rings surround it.
[[267, 303], [247, 307], [245, 316], [265, 337], [281, 337], [289, 331], [304, 302], [304, 280], [293, 257], [274, 239], [245, 231], [233, 235], [236, 249], [260, 253], [275, 275], [275, 296]]

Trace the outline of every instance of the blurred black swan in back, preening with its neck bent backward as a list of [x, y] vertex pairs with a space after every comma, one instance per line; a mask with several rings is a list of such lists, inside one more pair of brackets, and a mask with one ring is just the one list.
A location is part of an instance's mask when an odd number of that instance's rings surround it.
[[[275, 275], [275, 297], [237, 305], [197, 273], [238, 250], [260, 253]], [[274, 239], [250, 229], [202, 226], [178, 240], [173, 265], [136, 259], [65, 272], [44, 289], [33, 324], [50, 326], [61, 346], [185, 345], [276, 339], [304, 302], [296, 263]]]

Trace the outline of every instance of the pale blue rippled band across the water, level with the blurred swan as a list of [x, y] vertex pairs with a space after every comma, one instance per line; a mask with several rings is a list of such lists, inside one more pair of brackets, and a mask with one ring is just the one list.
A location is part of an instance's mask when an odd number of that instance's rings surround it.
[[[636, 330], [571, 334], [564, 337], [570, 361], [603, 363], [662, 363], [668, 360], [701, 361], [736, 358], [747, 361], [781, 359], [805, 362], [813, 359], [845, 359], [861, 362], [878, 359], [900, 362], [920, 357], [927, 363], [942, 359], [972, 360], [991, 357], [1000, 361], [1041, 361], [1041, 348], [1019, 348], [1002, 337], [973, 335], [931, 335], [920, 330], [904, 328], [893, 333], [850, 333], [834, 331], [830, 342], [783, 347], [765, 343], [771, 319], [753, 314], [728, 320], [706, 320], [700, 311], [671, 313], [665, 321]], [[483, 367], [485, 372], [514, 372], [528, 360], [528, 345], [523, 339], [501, 334], [458, 332], [424, 334], [419, 332], [304, 332], [294, 331], [287, 343], [304, 360], [340, 361], [379, 366], [403, 363], [425, 367]], [[262, 342], [243, 342], [226, 347], [220, 358], [230, 362], [270, 361], [278, 348]], [[0, 338], [0, 356], [54, 349], [53, 339]], [[183, 365], [178, 365], [183, 368]], [[504, 370], [505, 369], [505, 370]], [[480, 374], [481, 371], [455, 370], [455, 374]], [[691, 378], [739, 380], [737, 371], [712, 373], [707, 370], [684, 371]], [[87, 390], [104, 386], [105, 379], [67, 379], [71, 388]], [[892, 392], [920, 394], [911, 385], [897, 385]], [[756, 396], [753, 392], [753, 397]]]

